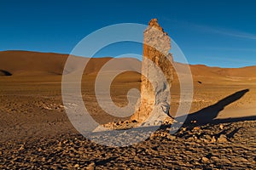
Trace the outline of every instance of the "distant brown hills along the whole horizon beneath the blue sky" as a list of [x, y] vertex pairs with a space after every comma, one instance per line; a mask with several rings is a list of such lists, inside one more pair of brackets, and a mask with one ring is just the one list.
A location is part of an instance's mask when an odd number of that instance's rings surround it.
[[[61, 75], [68, 54], [38, 53], [30, 51], [2, 51], [0, 52], [0, 76], [30, 76], [30, 75]], [[82, 59], [78, 57], [79, 59]], [[83, 58], [88, 59], [88, 58]], [[111, 57], [90, 59], [85, 74], [99, 71]], [[119, 70], [122, 65], [136, 63], [136, 59], [115, 59], [113, 70]], [[183, 64], [175, 63], [178, 67]], [[219, 68], [207, 65], [190, 65], [193, 76], [204, 77], [256, 77], [256, 66], [242, 68]], [[67, 68], [67, 73], [75, 71], [75, 63]]]

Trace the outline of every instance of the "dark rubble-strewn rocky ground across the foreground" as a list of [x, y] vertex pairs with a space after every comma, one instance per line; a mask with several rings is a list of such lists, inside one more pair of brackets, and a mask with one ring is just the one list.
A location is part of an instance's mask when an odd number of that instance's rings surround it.
[[0, 168], [255, 169], [256, 121], [162, 128], [126, 147], [96, 144], [79, 134], [4, 141]]

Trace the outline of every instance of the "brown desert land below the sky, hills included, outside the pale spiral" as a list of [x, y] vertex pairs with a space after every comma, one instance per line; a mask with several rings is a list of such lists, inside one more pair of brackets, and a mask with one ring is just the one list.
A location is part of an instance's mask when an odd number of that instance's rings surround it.
[[[85, 139], [69, 121], [61, 100], [66, 59], [65, 54], [0, 52], [1, 169], [256, 168], [256, 66], [190, 65], [194, 95], [183, 127], [174, 134], [160, 129], [139, 144], [110, 147]], [[92, 59], [82, 80], [84, 105], [100, 123], [129, 119], [109, 116], [97, 105], [94, 82], [109, 59]], [[126, 92], [139, 87], [139, 74], [119, 75], [111, 87], [113, 101], [125, 105]], [[175, 77], [173, 116], [183, 102], [179, 90]]]

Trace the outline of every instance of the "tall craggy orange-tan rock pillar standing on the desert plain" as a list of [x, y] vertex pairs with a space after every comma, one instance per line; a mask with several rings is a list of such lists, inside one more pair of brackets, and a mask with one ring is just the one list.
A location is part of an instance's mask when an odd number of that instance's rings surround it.
[[143, 33], [143, 64], [140, 106], [131, 120], [154, 125], [169, 113], [173, 80], [171, 38], [156, 19]]

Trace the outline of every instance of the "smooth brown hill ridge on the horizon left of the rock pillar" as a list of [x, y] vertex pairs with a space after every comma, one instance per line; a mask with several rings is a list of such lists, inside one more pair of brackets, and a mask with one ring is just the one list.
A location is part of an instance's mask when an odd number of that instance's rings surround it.
[[[68, 54], [38, 53], [28, 51], [3, 51], [0, 52], [0, 75], [1, 76], [28, 76], [28, 75], [61, 75]], [[88, 58], [75, 57], [75, 61], [67, 67], [67, 73], [76, 71], [76, 65], [80, 62], [88, 62]], [[91, 74], [99, 71], [110, 57], [90, 59], [84, 73]], [[119, 70], [122, 65], [128, 64], [131, 68], [137, 59], [113, 59], [111, 69]], [[110, 69], [110, 70], [111, 70]]]

